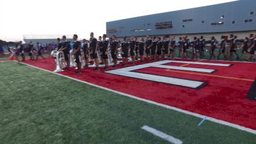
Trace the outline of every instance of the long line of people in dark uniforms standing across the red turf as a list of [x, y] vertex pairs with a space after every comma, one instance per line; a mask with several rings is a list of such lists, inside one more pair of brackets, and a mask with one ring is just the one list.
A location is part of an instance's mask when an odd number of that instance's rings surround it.
[[[206, 41], [203, 36], [200, 38], [194, 37], [193, 40], [189, 40], [187, 36], [180, 37], [179, 42], [175, 41], [174, 36], [150, 37], [147, 35], [146, 40], [144, 38], [138, 38], [131, 36], [125, 37], [122, 42], [116, 39], [113, 35], [107, 40], [106, 35], [99, 36], [99, 39], [90, 33], [90, 40], [83, 39], [82, 42], [77, 41], [77, 35], [74, 35], [74, 57], [77, 63], [76, 74], [81, 74], [81, 51], [83, 51], [84, 68], [88, 65], [95, 64], [95, 70], [100, 70], [99, 65], [104, 64], [104, 69], [109, 67], [109, 58], [113, 62], [113, 67], [116, 67], [118, 61], [118, 54], [122, 56], [122, 65], [125, 67], [128, 62], [128, 58], [131, 58], [132, 65], [135, 65], [136, 60], [154, 61], [163, 60], [166, 58], [175, 58], [176, 49], [179, 51], [179, 57], [181, 58], [193, 58], [200, 59], [205, 57], [205, 52], [209, 51], [210, 59], [220, 60], [223, 56], [225, 60], [232, 60], [234, 54], [236, 54], [237, 60], [242, 58], [246, 54], [246, 61], [256, 58], [256, 35], [250, 34], [249, 37], [244, 38], [243, 44], [239, 44], [237, 36], [230, 35], [230, 38], [226, 40], [225, 36], [221, 36], [220, 44], [212, 36], [210, 46], [206, 46]], [[70, 67], [70, 42], [67, 42], [66, 37], [63, 36], [62, 42], [60, 38], [57, 40], [58, 51], [63, 51], [67, 67], [65, 70], [69, 70]], [[218, 54], [216, 54], [218, 49]], [[237, 54], [237, 49], [243, 49], [242, 54]], [[89, 60], [90, 59], [90, 60]]]

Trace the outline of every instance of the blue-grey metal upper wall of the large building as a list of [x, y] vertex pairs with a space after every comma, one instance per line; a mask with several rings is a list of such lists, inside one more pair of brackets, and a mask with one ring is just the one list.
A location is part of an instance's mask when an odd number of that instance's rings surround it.
[[[143, 36], [143, 35], [174, 35], [189, 33], [220, 33], [230, 31], [256, 30], [256, 1], [241, 0], [230, 3], [215, 4], [187, 10], [157, 13], [130, 19], [115, 20], [106, 23], [107, 35]], [[254, 12], [254, 15], [250, 15]], [[225, 19], [221, 19], [224, 15]], [[182, 22], [184, 19], [193, 19], [192, 22]], [[253, 22], [244, 23], [245, 19], [253, 19]], [[204, 23], [202, 24], [202, 20]], [[156, 22], [172, 21], [173, 28], [156, 29]], [[232, 24], [232, 21], [236, 21]], [[224, 22], [223, 25], [211, 26], [212, 22]], [[183, 27], [184, 26], [184, 27]], [[152, 29], [147, 31], [147, 28]], [[116, 29], [116, 33], [108, 33], [108, 29]], [[144, 31], [132, 31], [144, 29]]]

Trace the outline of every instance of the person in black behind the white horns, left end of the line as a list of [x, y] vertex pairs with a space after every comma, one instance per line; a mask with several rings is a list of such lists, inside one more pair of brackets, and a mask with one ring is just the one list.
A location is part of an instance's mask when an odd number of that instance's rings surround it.
[[67, 63], [67, 66], [64, 68], [64, 70], [70, 69], [70, 60], [69, 60], [69, 51], [70, 51], [70, 42], [67, 41], [67, 37], [65, 35], [62, 36], [62, 43], [61, 48], [59, 51], [63, 51], [64, 58]]

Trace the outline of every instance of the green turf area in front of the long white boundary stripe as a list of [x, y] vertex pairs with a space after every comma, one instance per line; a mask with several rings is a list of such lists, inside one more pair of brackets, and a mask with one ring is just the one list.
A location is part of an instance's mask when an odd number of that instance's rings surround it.
[[[255, 134], [147, 104], [14, 61], [0, 62], [1, 143], [254, 144]], [[141, 91], [143, 92], [143, 91]]]

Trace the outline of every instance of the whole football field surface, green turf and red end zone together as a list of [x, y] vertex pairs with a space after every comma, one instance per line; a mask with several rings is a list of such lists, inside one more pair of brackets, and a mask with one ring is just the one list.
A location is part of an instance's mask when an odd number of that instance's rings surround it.
[[0, 62], [1, 142], [255, 143], [255, 63], [129, 66], [56, 75], [52, 59]]

